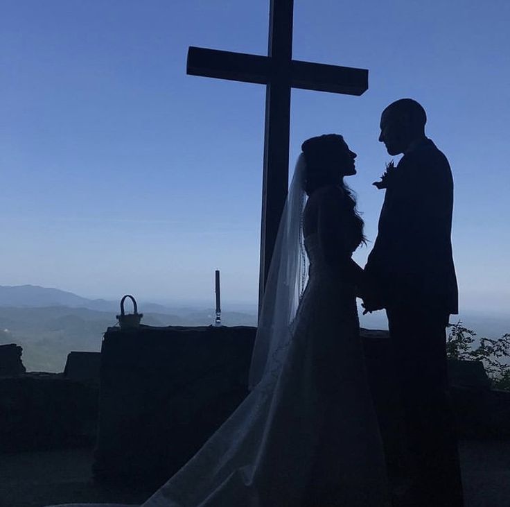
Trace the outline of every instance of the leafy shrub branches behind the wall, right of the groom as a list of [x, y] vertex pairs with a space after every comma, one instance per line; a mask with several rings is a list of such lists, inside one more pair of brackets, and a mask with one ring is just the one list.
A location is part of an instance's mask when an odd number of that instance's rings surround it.
[[480, 338], [474, 347], [476, 333], [462, 325], [450, 325], [446, 338], [446, 354], [450, 359], [482, 361], [485, 371], [492, 381], [493, 388], [510, 390], [510, 333], [501, 338]]

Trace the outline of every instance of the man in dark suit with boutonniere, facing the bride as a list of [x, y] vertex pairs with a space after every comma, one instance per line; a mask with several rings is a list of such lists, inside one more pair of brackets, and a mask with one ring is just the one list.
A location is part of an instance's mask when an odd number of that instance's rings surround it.
[[450, 240], [453, 182], [445, 155], [425, 137], [425, 110], [403, 98], [381, 115], [389, 165], [378, 236], [365, 275], [365, 311], [386, 309], [410, 462], [402, 505], [461, 507], [457, 442], [448, 402], [446, 325], [457, 313]]

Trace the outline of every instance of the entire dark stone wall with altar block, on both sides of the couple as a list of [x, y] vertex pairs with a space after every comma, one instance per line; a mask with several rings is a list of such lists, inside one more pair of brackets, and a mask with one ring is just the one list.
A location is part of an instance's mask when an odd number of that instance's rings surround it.
[[[0, 452], [96, 443], [96, 478], [157, 487], [247, 394], [255, 333], [254, 327], [109, 328], [99, 420], [98, 354], [71, 352], [67, 376], [0, 377]], [[387, 454], [398, 456], [403, 427], [387, 332], [362, 329], [362, 343]], [[19, 348], [12, 345], [11, 355]], [[480, 363], [450, 362], [450, 382], [461, 437], [510, 436], [510, 393], [491, 390]]]

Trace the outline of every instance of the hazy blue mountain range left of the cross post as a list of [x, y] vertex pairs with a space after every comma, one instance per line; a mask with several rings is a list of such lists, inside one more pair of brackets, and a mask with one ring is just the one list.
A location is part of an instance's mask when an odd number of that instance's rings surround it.
[[[131, 302], [126, 311], [132, 311]], [[152, 326], [211, 325], [213, 309], [169, 308], [139, 302], [142, 323]], [[35, 285], [0, 286], [0, 345], [23, 347], [28, 371], [60, 372], [71, 350], [98, 351], [107, 327], [116, 325], [119, 302], [90, 300]], [[256, 325], [256, 313], [222, 312], [225, 325]]]

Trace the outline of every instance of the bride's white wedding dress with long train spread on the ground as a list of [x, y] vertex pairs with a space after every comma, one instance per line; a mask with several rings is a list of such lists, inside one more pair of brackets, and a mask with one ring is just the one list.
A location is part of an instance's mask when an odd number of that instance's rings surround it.
[[308, 284], [269, 372], [143, 507], [389, 505], [354, 288], [320, 245], [305, 239]]

